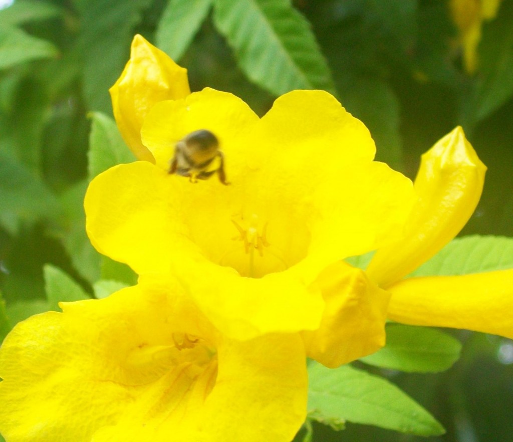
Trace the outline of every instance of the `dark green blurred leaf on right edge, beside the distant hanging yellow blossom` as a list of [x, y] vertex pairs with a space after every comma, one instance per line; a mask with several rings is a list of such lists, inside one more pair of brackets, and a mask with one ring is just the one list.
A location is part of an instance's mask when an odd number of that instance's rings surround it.
[[479, 76], [474, 101], [468, 103], [470, 121], [477, 123], [502, 106], [513, 94], [513, 3], [503, 2], [497, 17], [483, 27], [479, 46]]

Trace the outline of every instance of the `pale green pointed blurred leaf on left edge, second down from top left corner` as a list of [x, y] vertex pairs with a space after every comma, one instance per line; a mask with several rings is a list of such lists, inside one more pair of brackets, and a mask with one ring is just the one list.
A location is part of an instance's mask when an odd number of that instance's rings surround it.
[[50, 42], [38, 39], [15, 27], [0, 28], [0, 70], [58, 54]]

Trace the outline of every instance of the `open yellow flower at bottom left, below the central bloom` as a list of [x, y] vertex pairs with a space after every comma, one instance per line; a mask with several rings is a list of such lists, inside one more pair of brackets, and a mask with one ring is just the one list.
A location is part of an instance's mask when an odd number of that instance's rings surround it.
[[232, 340], [176, 280], [18, 323], [0, 349], [9, 442], [289, 442], [306, 415], [299, 335]]

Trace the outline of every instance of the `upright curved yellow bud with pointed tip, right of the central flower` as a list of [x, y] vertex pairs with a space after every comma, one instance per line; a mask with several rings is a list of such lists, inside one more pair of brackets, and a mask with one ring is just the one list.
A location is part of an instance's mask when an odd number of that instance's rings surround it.
[[419, 200], [404, 237], [378, 249], [367, 268], [371, 279], [386, 289], [453, 239], [479, 202], [485, 171], [461, 127], [424, 153], [414, 184]]

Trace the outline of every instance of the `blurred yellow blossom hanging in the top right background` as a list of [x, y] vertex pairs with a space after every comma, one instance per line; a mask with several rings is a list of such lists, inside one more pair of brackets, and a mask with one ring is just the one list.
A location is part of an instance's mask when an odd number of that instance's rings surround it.
[[463, 64], [469, 73], [476, 71], [477, 47], [481, 41], [481, 28], [485, 21], [497, 15], [501, 0], [451, 0], [452, 18], [460, 32]]

